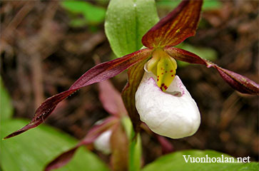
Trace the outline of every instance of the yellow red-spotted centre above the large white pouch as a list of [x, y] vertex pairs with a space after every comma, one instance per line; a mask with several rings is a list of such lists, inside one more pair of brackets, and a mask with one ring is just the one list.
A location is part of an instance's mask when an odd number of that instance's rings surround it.
[[176, 68], [176, 60], [160, 48], [153, 52], [153, 57], [147, 64], [148, 71], [157, 76], [158, 87], [163, 91], [166, 91], [175, 78]]

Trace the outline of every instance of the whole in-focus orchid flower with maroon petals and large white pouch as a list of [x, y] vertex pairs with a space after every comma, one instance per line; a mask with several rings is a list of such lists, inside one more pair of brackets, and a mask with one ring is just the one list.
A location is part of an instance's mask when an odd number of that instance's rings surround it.
[[105, 81], [126, 69], [128, 83], [123, 89], [122, 97], [136, 132], [139, 131], [143, 120], [151, 130], [161, 135], [171, 138], [192, 135], [200, 124], [200, 114], [191, 95], [176, 76], [176, 60], [215, 68], [235, 90], [258, 95], [258, 84], [245, 76], [220, 68], [191, 52], [173, 47], [195, 35], [202, 3], [202, 0], [182, 1], [143, 36], [142, 43], [146, 48], [94, 66], [68, 90], [46, 99], [28, 125], [6, 138], [24, 133], [43, 123], [56, 105], [76, 90]]

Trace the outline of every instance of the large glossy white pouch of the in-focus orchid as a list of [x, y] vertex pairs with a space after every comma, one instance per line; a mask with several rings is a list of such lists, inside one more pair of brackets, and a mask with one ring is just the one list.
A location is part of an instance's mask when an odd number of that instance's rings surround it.
[[156, 76], [145, 72], [136, 92], [136, 109], [141, 121], [153, 132], [168, 138], [193, 135], [200, 126], [200, 112], [195, 100], [176, 76], [164, 93]]

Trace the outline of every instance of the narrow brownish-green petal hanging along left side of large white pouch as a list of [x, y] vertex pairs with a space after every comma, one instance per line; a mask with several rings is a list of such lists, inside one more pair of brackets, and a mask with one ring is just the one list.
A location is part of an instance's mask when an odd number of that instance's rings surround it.
[[121, 93], [124, 105], [128, 110], [128, 115], [131, 118], [131, 122], [133, 123], [133, 128], [136, 133], [139, 131], [141, 120], [139, 118], [138, 111], [136, 110], [135, 93], [138, 90], [138, 85], [141, 83], [141, 79], [143, 78], [144, 66], [148, 59], [149, 58], [146, 58], [135, 66], [128, 68], [128, 83]]

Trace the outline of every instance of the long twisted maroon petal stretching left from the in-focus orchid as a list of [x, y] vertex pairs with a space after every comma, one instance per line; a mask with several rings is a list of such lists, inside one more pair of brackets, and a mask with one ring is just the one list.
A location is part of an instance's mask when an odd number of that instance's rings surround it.
[[34, 118], [28, 125], [24, 126], [24, 128], [21, 128], [20, 130], [17, 130], [14, 133], [11, 133], [10, 135], [6, 136], [6, 138], [14, 137], [16, 135], [24, 133], [24, 131], [26, 130], [35, 128], [36, 126], [43, 123], [43, 121], [46, 120], [46, 118], [48, 118], [49, 115], [51, 115], [53, 110], [56, 108], [56, 105], [58, 105], [61, 102], [61, 100], [67, 98], [68, 95], [71, 95], [79, 88], [83, 88], [93, 83], [105, 81], [108, 78], [112, 78], [113, 76], [118, 75], [119, 73], [133, 66], [139, 61], [143, 61], [149, 56], [151, 56], [151, 51], [152, 49], [145, 48], [134, 53], [130, 53], [121, 58], [116, 58], [113, 61], [100, 63], [97, 66], [94, 66], [86, 73], [84, 73], [83, 76], [78, 78], [78, 80], [75, 83], [73, 83], [73, 85], [68, 90], [54, 95], [51, 98], [47, 98], [44, 101], [44, 103], [42, 103], [36, 110]]

